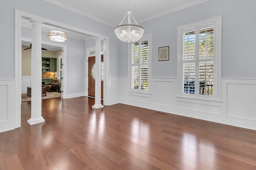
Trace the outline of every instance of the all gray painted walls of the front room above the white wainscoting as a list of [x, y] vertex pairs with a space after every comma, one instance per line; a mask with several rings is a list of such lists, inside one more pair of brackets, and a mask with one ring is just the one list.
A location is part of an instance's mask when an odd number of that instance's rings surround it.
[[[0, 22], [4, 24], [0, 27], [0, 31], [4, 32], [0, 39], [0, 60], [4, 61], [0, 62], [0, 79], [14, 78], [14, 8], [109, 36], [109, 73], [112, 77], [128, 76], [127, 44], [117, 40], [110, 26], [43, 0], [5, 0], [0, 2]], [[256, 34], [250, 34], [256, 28], [255, 8], [255, 0], [210, 0], [141, 23], [145, 34], [152, 33], [152, 77], [177, 77], [178, 26], [223, 16], [222, 78], [256, 78]], [[158, 47], [162, 46], [170, 47], [169, 61], [158, 61]], [[68, 71], [77, 64], [73, 62], [70, 61], [72, 65], [68, 66]]]

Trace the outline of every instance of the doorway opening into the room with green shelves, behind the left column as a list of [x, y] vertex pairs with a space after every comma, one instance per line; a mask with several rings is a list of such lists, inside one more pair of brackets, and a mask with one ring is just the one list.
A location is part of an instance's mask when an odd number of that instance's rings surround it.
[[[58, 44], [56, 44], [58, 45]], [[22, 38], [21, 47], [21, 101], [31, 101], [31, 50], [32, 43]], [[42, 99], [62, 97], [62, 63], [63, 47], [42, 43]], [[60, 61], [61, 56], [61, 61]], [[61, 75], [60, 75], [61, 69]], [[52, 82], [54, 83], [52, 84]], [[57, 83], [59, 82], [59, 83]]]

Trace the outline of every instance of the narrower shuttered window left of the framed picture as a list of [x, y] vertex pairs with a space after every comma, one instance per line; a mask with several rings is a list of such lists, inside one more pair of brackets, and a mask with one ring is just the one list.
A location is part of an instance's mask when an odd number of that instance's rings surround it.
[[150, 68], [149, 38], [142, 38], [139, 42], [131, 43], [131, 89], [148, 91]]

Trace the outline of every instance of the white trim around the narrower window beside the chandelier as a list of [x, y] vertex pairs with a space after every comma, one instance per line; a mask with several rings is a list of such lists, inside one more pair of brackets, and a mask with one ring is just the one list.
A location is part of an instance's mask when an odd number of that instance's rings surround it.
[[[132, 89], [131, 87], [131, 82], [132, 82], [132, 43], [128, 43], [128, 81], [129, 81], [129, 87], [128, 91], [132, 92], [138, 92], [138, 93], [150, 93], [152, 87], [151, 87], [151, 65], [152, 65], [152, 34], [145, 34], [142, 36], [138, 42], [143, 42], [148, 40], [148, 90], [143, 90], [143, 89]], [[135, 42], [136, 43], [136, 42]]]

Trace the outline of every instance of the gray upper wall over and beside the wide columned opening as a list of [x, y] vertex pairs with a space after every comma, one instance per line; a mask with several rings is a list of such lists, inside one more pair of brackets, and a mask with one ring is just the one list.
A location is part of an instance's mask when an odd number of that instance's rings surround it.
[[[0, 61], [4, 62], [0, 62], [0, 79], [14, 79], [14, 9], [22, 10], [31, 14], [42, 16], [44, 18], [55, 20], [57, 22], [82, 28], [90, 32], [108, 36], [111, 44], [109, 45], [109, 55], [111, 56], [110, 72], [113, 72], [114, 74], [114, 71], [118, 69], [119, 60], [116, 59], [116, 57], [118, 57], [117, 54], [120, 50], [118, 48], [119, 41], [115, 37], [112, 27], [106, 26], [100, 22], [91, 20], [64, 8], [60, 8], [44, 0], [1, 0], [0, 23], [4, 24], [4, 26], [2, 25], [0, 27], [0, 31], [4, 32], [4, 34], [0, 39]], [[44, 39], [47, 41], [47, 36], [42, 35], [42, 40]], [[70, 65], [68, 69], [72, 69], [74, 65]], [[77, 67], [74, 67], [74, 69], [76, 68]], [[68, 70], [68, 72], [69, 71], [70, 70]]]

